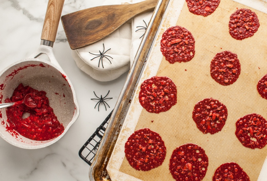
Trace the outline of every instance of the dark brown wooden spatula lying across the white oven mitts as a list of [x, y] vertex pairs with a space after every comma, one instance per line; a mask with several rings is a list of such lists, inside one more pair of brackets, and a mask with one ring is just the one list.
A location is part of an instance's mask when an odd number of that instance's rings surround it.
[[135, 4], [92, 7], [61, 17], [64, 31], [72, 50], [91, 45], [134, 18], [151, 11], [158, 0], [146, 0]]

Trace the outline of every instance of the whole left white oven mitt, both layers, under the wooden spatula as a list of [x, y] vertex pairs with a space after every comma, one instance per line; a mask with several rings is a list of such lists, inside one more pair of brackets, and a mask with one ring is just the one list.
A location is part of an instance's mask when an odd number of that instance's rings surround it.
[[[107, 0], [103, 3], [103, 5], [110, 4], [127, 3], [122, 3], [121, 0]], [[99, 42], [72, 50], [71, 54], [83, 72], [93, 79], [105, 82], [120, 77], [130, 69], [130, 49], [131, 24], [126, 23]]]

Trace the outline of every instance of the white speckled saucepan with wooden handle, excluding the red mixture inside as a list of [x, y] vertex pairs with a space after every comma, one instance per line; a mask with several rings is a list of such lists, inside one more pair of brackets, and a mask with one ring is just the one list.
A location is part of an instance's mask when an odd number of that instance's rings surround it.
[[[55, 139], [34, 141], [9, 129], [6, 108], [0, 109], [0, 136], [12, 145], [26, 149], [46, 147], [58, 141], [79, 116], [79, 107], [74, 88], [53, 54], [53, 43], [58, 29], [64, 0], [49, 0], [41, 36], [41, 45], [36, 53], [17, 61], [0, 73], [0, 101], [10, 98], [20, 83], [37, 90], [44, 90], [64, 132]], [[50, 61], [38, 59], [46, 54]]]

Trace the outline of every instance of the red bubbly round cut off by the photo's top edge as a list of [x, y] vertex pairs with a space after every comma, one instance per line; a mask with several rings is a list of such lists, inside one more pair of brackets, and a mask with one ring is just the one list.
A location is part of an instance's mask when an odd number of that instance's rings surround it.
[[219, 6], [220, 0], [186, 0], [190, 12], [195, 15], [208, 16]]

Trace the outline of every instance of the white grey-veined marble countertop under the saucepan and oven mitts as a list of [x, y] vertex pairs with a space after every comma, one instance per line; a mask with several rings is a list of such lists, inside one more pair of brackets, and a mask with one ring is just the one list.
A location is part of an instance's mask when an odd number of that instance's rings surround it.
[[[99, 6], [104, 0], [65, 0], [62, 15]], [[37, 50], [48, 0], [0, 0], [0, 71], [9, 64]], [[26, 150], [10, 145], [0, 138], [0, 180], [89, 180], [89, 165], [78, 151], [116, 104], [127, 72], [117, 80], [99, 82], [82, 72], [71, 57], [71, 49], [60, 22], [53, 47], [58, 63], [71, 80], [80, 106], [80, 116], [56, 143], [37, 150]], [[110, 108], [94, 109], [98, 96], [113, 97]]]

